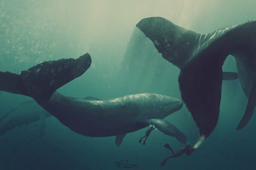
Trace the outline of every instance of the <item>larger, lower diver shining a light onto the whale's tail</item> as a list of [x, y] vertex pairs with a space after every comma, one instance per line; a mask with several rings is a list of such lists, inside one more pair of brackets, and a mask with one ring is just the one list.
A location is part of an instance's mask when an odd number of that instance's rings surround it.
[[164, 166], [164, 165], [166, 164], [166, 161], [167, 161], [167, 159], [169, 159], [169, 158], [177, 158], [177, 157], [179, 157], [179, 156], [181, 156], [181, 155], [183, 155], [183, 154], [185, 154], [185, 153], [189, 156], [189, 155], [191, 155], [192, 152], [195, 151], [195, 147], [192, 147], [191, 144], [188, 144], [188, 145], [184, 146], [184, 147], [183, 147], [179, 152], [177, 152], [177, 153], [174, 153], [174, 152], [173, 152], [173, 150], [172, 150], [172, 148], [170, 147], [169, 144], [165, 144], [164, 147], [166, 147], [167, 149], [171, 150], [172, 156], [169, 156], [169, 157], [167, 157], [166, 159], [164, 159], [163, 162], [161, 163], [162, 166]]

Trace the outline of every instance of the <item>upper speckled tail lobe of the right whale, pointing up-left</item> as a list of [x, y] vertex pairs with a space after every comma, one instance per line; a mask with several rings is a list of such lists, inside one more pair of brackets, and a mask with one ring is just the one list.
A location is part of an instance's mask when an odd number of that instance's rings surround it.
[[178, 68], [186, 63], [204, 34], [198, 34], [175, 25], [162, 17], [144, 18], [136, 25], [162, 54], [163, 58]]

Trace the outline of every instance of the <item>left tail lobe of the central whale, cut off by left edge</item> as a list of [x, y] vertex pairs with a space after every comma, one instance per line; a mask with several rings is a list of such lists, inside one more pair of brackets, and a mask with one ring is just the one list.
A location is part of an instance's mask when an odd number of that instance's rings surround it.
[[29, 96], [19, 74], [0, 72], [0, 91]]

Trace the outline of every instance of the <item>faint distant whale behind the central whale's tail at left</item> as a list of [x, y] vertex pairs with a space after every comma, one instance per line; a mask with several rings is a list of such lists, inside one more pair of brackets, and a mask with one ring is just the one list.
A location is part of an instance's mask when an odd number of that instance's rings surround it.
[[29, 126], [32, 122], [40, 123], [39, 135], [43, 136], [46, 128], [45, 119], [50, 116], [52, 115], [34, 100], [21, 102], [0, 118], [0, 136], [15, 127]]

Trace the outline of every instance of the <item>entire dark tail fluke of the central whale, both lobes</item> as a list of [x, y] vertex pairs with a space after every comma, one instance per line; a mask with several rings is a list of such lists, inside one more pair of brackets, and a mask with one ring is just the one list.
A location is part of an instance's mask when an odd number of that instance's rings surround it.
[[42, 62], [21, 74], [0, 72], [0, 90], [46, 100], [54, 91], [81, 76], [90, 67], [90, 55], [78, 59]]

